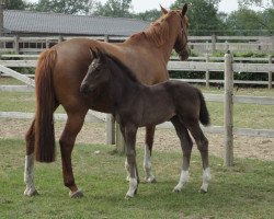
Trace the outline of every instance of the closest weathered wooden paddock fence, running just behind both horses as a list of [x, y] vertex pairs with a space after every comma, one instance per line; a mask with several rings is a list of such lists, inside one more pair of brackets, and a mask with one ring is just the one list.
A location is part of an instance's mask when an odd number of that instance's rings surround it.
[[[32, 57], [33, 58], [33, 57]], [[35, 57], [37, 58], [37, 57]], [[205, 100], [209, 102], [221, 102], [225, 105], [224, 111], [224, 127], [221, 126], [210, 126], [203, 128], [206, 132], [220, 134], [225, 137], [225, 165], [230, 166], [233, 163], [233, 135], [241, 136], [259, 136], [259, 137], [271, 137], [274, 138], [274, 130], [272, 129], [250, 129], [250, 128], [239, 128], [233, 127], [232, 119], [232, 108], [235, 103], [246, 103], [246, 104], [259, 104], [259, 105], [274, 105], [274, 97], [266, 96], [243, 96], [233, 95], [233, 72], [235, 71], [246, 71], [246, 72], [273, 72], [274, 64], [240, 64], [233, 62], [231, 54], [226, 54], [224, 57], [225, 62], [196, 62], [196, 61], [170, 61], [168, 64], [168, 70], [186, 70], [186, 71], [224, 71], [225, 80], [221, 83], [225, 84], [225, 93], [220, 94], [208, 94], [204, 93]], [[31, 77], [21, 74], [12, 69], [11, 67], [35, 67], [36, 60], [20, 60], [20, 62], [14, 60], [1, 60], [0, 71], [4, 76], [15, 78], [24, 82], [25, 87], [0, 87], [0, 91], [33, 91], [34, 80]], [[9, 67], [9, 68], [8, 68]], [[210, 81], [209, 81], [210, 82]], [[271, 82], [273, 84], [273, 82]], [[9, 87], [9, 88], [8, 88]], [[0, 117], [9, 118], [33, 118], [33, 114], [30, 113], [19, 113], [19, 112], [0, 112]], [[56, 119], [66, 119], [65, 114], [55, 114]], [[118, 141], [121, 136], [117, 136], [118, 131], [115, 131], [114, 119], [110, 115], [101, 114], [98, 112], [90, 111], [87, 116], [87, 122], [100, 122], [106, 123], [106, 142], [115, 143], [115, 138]], [[158, 127], [160, 128], [171, 128], [171, 123], [167, 122]], [[116, 137], [115, 137], [116, 135]], [[117, 143], [118, 150], [123, 149], [123, 142]]]

